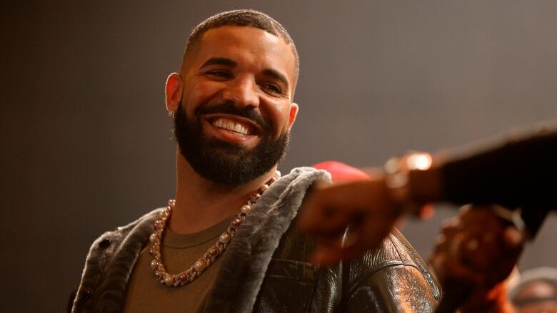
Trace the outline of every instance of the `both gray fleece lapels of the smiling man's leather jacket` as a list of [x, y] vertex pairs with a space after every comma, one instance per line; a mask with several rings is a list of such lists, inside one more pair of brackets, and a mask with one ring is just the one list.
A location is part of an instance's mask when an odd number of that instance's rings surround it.
[[[306, 190], [316, 180], [329, 178], [324, 170], [295, 168], [271, 185], [222, 256], [205, 312], [252, 311], [271, 257], [296, 217]], [[149, 240], [158, 212], [154, 210], [114, 232], [106, 232], [93, 243], [73, 312], [121, 312], [129, 275]], [[111, 242], [104, 250], [100, 248], [103, 240]], [[89, 292], [92, 299], [87, 299]]]

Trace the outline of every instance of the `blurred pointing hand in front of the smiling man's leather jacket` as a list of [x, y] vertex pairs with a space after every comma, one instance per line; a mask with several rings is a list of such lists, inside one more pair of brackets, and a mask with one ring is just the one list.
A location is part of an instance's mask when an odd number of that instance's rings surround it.
[[[352, 183], [314, 185], [298, 227], [318, 244], [313, 262], [329, 265], [378, 247], [399, 215], [384, 176], [376, 175]], [[350, 233], [343, 239], [346, 227]]]

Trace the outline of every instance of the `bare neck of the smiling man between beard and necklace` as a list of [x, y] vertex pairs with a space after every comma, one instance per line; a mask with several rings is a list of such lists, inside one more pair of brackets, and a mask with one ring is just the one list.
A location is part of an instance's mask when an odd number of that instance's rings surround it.
[[176, 152], [176, 205], [169, 227], [180, 234], [205, 230], [226, 219], [245, 205], [261, 185], [271, 179], [276, 167], [243, 185], [214, 183], [197, 174]]

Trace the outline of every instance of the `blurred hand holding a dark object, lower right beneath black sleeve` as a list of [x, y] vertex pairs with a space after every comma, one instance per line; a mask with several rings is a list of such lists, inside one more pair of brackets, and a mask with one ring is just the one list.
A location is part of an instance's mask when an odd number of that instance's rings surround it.
[[504, 280], [523, 248], [524, 236], [490, 206], [464, 208], [444, 222], [429, 263], [445, 292], [472, 290], [461, 312], [506, 312]]

